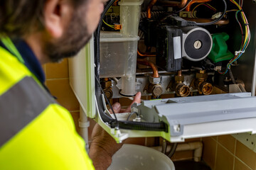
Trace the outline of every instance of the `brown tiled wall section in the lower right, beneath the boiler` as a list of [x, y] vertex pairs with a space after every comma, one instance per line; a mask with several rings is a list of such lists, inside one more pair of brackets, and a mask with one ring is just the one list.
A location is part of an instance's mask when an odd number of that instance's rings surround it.
[[203, 160], [213, 170], [255, 170], [256, 153], [231, 135], [203, 138]]

